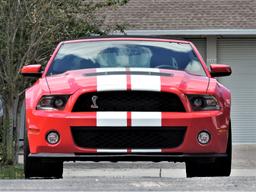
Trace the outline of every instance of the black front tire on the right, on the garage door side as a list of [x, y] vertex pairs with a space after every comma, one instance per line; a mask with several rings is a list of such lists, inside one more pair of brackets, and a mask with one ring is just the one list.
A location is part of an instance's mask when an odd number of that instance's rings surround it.
[[232, 164], [232, 135], [231, 125], [227, 145], [227, 156], [218, 157], [214, 162], [200, 160], [189, 160], [186, 162], [187, 177], [227, 177], [231, 173]]

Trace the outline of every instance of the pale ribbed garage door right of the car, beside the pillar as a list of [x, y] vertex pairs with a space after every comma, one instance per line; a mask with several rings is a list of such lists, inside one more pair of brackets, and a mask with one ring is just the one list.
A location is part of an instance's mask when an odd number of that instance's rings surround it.
[[217, 54], [218, 63], [233, 70], [220, 78], [232, 92], [233, 141], [256, 143], [256, 39], [220, 39]]

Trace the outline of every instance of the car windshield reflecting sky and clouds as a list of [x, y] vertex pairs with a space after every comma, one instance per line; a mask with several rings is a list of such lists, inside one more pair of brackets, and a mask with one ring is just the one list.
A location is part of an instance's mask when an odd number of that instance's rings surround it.
[[95, 41], [61, 46], [47, 75], [88, 68], [161, 68], [205, 76], [190, 44], [151, 41]]

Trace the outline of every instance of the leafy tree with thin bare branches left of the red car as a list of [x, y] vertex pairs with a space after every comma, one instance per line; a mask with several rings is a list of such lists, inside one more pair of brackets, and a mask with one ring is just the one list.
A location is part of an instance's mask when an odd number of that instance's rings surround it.
[[[126, 0], [0, 0], [0, 95], [5, 122], [3, 162], [12, 163], [16, 113], [27, 82], [19, 71], [24, 64], [45, 64], [56, 44], [66, 39], [104, 35], [104, 18], [96, 13]], [[120, 28], [120, 26], [117, 26]]]

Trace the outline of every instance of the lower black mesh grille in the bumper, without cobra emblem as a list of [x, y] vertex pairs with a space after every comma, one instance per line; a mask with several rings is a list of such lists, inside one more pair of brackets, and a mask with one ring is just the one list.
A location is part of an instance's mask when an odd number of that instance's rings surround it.
[[100, 149], [157, 149], [179, 146], [186, 127], [71, 127], [77, 146]]

